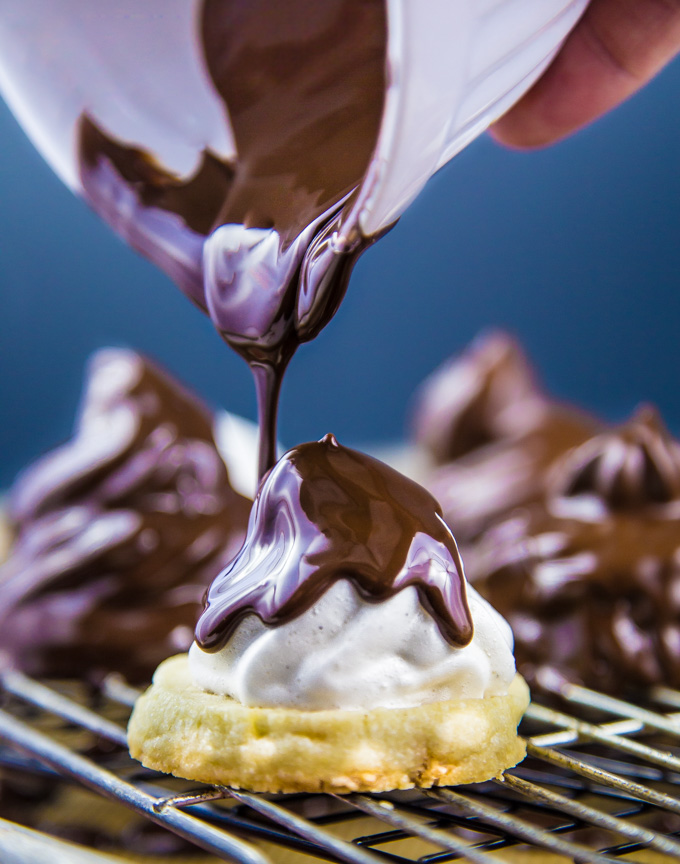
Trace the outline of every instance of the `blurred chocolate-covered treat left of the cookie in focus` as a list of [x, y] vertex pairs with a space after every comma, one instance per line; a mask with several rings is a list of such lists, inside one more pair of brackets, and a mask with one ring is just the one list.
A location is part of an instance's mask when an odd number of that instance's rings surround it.
[[249, 510], [205, 406], [139, 355], [100, 351], [74, 437], [12, 490], [0, 651], [33, 675], [148, 680], [191, 643]]

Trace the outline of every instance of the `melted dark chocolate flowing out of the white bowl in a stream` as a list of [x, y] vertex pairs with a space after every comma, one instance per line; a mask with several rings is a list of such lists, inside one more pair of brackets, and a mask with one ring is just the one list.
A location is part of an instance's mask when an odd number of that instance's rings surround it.
[[233, 165], [203, 152], [180, 178], [84, 116], [80, 176], [100, 215], [255, 371], [262, 476], [286, 366], [333, 316], [371, 242], [341, 225], [380, 129], [386, 10], [384, 0], [204, 0], [199, 34]]

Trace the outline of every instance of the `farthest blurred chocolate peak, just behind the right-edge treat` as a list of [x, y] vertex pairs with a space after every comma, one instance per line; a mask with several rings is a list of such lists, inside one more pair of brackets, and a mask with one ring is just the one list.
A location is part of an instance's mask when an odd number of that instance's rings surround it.
[[435, 463], [426, 481], [459, 541], [539, 500], [550, 466], [597, 422], [540, 389], [517, 342], [482, 334], [421, 388], [414, 437]]

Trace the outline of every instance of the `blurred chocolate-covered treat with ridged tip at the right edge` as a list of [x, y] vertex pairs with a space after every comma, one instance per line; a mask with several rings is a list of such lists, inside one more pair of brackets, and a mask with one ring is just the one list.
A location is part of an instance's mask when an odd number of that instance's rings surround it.
[[680, 445], [650, 409], [566, 454], [545, 500], [467, 560], [529, 679], [552, 667], [610, 693], [680, 686]]

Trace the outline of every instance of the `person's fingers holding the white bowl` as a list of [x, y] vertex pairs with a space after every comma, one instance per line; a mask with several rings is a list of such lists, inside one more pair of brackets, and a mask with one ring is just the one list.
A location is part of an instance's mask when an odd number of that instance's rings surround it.
[[592, 0], [545, 74], [491, 128], [510, 147], [552, 144], [623, 102], [680, 52], [680, 0]]

